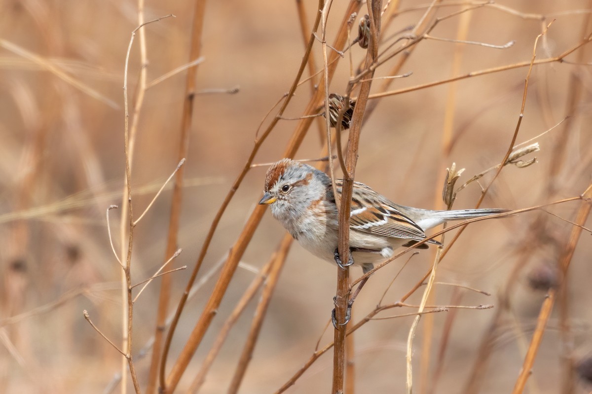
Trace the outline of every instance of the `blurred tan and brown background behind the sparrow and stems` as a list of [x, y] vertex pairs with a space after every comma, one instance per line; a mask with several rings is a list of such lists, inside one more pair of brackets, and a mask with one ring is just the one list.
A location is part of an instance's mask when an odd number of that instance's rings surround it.
[[[174, 309], [188, 279], [215, 212], [242, 169], [253, 146], [258, 125], [272, 105], [288, 92], [304, 53], [295, 1], [210, 1], [207, 3], [198, 89], [229, 89], [234, 95], [198, 95], [195, 99], [191, 146], [185, 163], [179, 247], [175, 266], [189, 269], [172, 274]], [[333, 5], [327, 37], [333, 40], [345, 2]], [[460, 9], [448, 2], [439, 16]], [[468, 4], [468, 3], [467, 3]], [[558, 56], [592, 33], [590, 1], [504, 2], [505, 10], [483, 7], [471, 12], [467, 40], [503, 45], [492, 49], [422, 41], [404, 64], [391, 89], [417, 86], [491, 67], [529, 62], [542, 22], [527, 14], [554, 20], [537, 49], [537, 59]], [[417, 23], [423, 2], [401, 1], [401, 12], [385, 37]], [[304, 1], [308, 24], [316, 16], [316, 1]], [[362, 6], [364, 10], [366, 5]], [[415, 9], [416, 8], [416, 9]], [[574, 12], [574, 10], [580, 10]], [[511, 12], [510, 12], [511, 11]], [[570, 11], [570, 12], [567, 12]], [[362, 11], [363, 14], [364, 11]], [[148, 81], [188, 62], [193, 4], [190, 1], [150, 2], [146, 20], [167, 14], [176, 18], [147, 25]], [[356, 19], [357, 20], [357, 19]], [[440, 22], [435, 37], [455, 38], [460, 17]], [[120, 372], [121, 356], [83, 319], [87, 309], [98, 327], [116, 343], [121, 337], [120, 267], [107, 236], [105, 209], [121, 204], [125, 162], [123, 148], [123, 72], [131, 31], [137, 26], [133, 1], [0, 2], [0, 392], [88, 392], [110, 390]], [[356, 34], [356, 28], [353, 35]], [[392, 40], [390, 41], [392, 42]], [[567, 57], [590, 63], [589, 44]], [[461, 49], [458, 73], [453, 56]], [[365, 55], [352, 48], [353, 64]], [[314, 47], [317, 69], [321, 47]], [[399, 57], [379, 67], [387, 75]], [[343, 93], [349, 78], [348, 56], [340, 63], [330, 91]], [[56, 71], [57, 70], [57, 71]], [[129, 70], [130, 102], [139, 76], [139, 46], [134, 43]], [[591, 137], [589, 65], [539, 64], [533, 68], [525, 117], [517, 143], [543, 133], [538, 163], [526, 168], [507, 166], [485, 199], [485, 207], [526, 208], [577, 196], [590, 183]], [[450, 84], [382, 98], [362, 130], [356, 180], [377, 189], [395, 202], [421, 208], [441, 204], [437, 179], [452, 162], [465, 172], [458, 185], [496, 165], [509, 147], [520, 113], [527, 67], [471, 77]], [[60, 77], [66, 75], [66, 77]], [[139, 121], [132, 186], [136, 212], [150, 202], [157, 188], [176, 166], [186, 73], [150, 88]], [[308, 76], [305, 72], [305, 76]], [[72, 82], [75, 80], [79, 86]], [[375, 85], [375, 86], [378, 86]], [[575, 90], [574, 90], [575, 89]], [[96, 94], [91, 94], [95, 92]], [[297, 91], [285, 116], [298, 117], [310, 98], [310, 85]], [[453, 146], [442, 153], [446, 108], [452, 102]], [[130, 105], [131, 108], [131, 105]], [[274, 112], [275, 113], [275, 112]], [[256, 157], [274, 162], [289, 140], [295, 121], [280, 121]], [[317, 123], [308, 132], [298, 159], [320, 156]], [[559, 154], [557, 146], [565, 144]], [[249, 172], [224, 214], [201, 274], [224, 258], [246, 218], [260, 198], [265, 167]], [[485, 185], [491, 173], [484, 177]], [[133, 282], [150, 277], [163, 262], [170, 212], [170, 189], [157, 200], [136, 228]], [[459, 193], [455, 208], [472, 208], [480, 196], [477, 183]], [[579, 202], [548, 208], [573, 221]], [[119, 212], [111, 211], [111, 229], [119, 250]], [[592, 225], [588, 220], [586, 227]], [[504, 308], [496, 328], [491, 358], [480, 382], [481, 393], [511, 391], [522, 366], [545, 290], [533, 290], [529, 275], [554, 266], [572, 225], [540, 212], [471, 225], [440, 266], [437, 280], [490, 292], [487, 297], [469, 290], [436, 285], [437, 305], [495, 304], [493, 309], [459, 309], [454, 313], [446, 353], [437, 361], [448, 314], [433, 315], [428, 383], [421, 377], [422, 324], [414, 342], [417, 392], [461, 393], [477, 361], [477, 348], [498, 308]], [[201, 365], [227, 314], [268, 261], [284, 230], [267, 213], [231, 282], [213, 327], [179, 386], [184, 392]], [[574, 360], [592, 351], [592, 244], [584, 231], [568, 276], [569, 322]], [[451, 236], [448, 236], [448, 240]], [[558, 244], [554, 244], [556, 240]], [[520, 253], [526, 250], [527, 253]], [[354, 321], [371, 311], [403, 266], [406, 257], [372, 276], [356, 301]], [[398, 276], [385, 302], [396, 302], [429, 269], [433, 251], [422, 251]], [[330, 317], [335, 293], [335, 267], [294, 244], [263, 324], [241, 393], [275, 392], [314, 351]], [[361, 272], [353, 269], [353, 276]], [[169, 356], [170, 366], [200, 315], [214, 279], [207, 282], [185, 309]], [[507, 305], [501, 303], [509, 278], [516, 279]], [[198, 278], [199, 279], [199, 278]], [[136, 303], [134, 349], [153, 335], [159, 280]], [[421, 292], [408, 302], [419, 303]], [[453, 293], [456, 298], [453, 298]], [[237, 355], [242, 350], [255, 302], [249, 306], [224, 345], [208, 375], [205, 393], [225, 392]], [[561, 382], [564, 346], [559, 340], [559, 305], [552, 314], [539, 350], [529, 393], [557, 393]], [[395, 309], [385, 316], [412, 312]], [[15, 318], [16, 317], [16, 318]], [[405, 349], [413, 317], [372, 321], [356, 332], [356, 386], [359, 393], [402, 393], [405, 387]], [[423, 320], [422, 320], [423, 322]], [[329, 330], [321, 344], [332, 340]], [[328, 392], [331, 352], [321, 357], [291, 393]], [[150, 357], [136, 357], [144, 387]], [[433, 377], [437, 366], [439, 379]], [[574, 393], [587, 385], [573, 374]], [[129, 381], [128, 381], [129, 382]], [[430, 386], [433, 383], [433, 386]], [[115, 387], [120, 391], [120, 387]], [[131, 386], [128, 387], [131, 390]], [[420, 391], [422, 390], [422, 391]]]

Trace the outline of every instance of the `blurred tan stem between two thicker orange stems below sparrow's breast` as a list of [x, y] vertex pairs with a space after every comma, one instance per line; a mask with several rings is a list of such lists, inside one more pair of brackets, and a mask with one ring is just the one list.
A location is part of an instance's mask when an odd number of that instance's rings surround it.
[[[287, 235], [287, 237], [289, 237], [290, 240], [292, 239], [290, 235]], [[215, 358], [218, 356], [218, 353], [220, 353], [222, 345], [226, 341], [226, 338], [228, 337], [231, 328], [234, 327], [234, 324], [239, 319], [240, 315], [242, 315], [244, 309], [247, 307], [247, 305], [249, 305], [249, 302], [258, 292], [263, 281], [268, 277], [269, 270], [271, 269], [272, 263], [273, 261], [275, 261], [275, 258], [276, 253], [274, 253], [274, 255], [271, 257], [271, 260], [269, 260], [269, 262], [265, 264], [265, 266], [260, 270], [258, 276], [256, 276], [255, 279], [253, 279], [253, 281], [249, 285], [249, 288], [243, 293], [243, 296], [240, 298], [239, 302], [237, 302], [233, 311], [224, 322], [224, 325], [220, 329], [220, 333], [216, 337], [214, 344], [210, 348], [210, 351], [208, 351], [208, 355], [205, 357], [204, 362], [201, 364], [200, 371], [195, 376], [195, 379], [193, 380], [193, 383], [191, 383], [189, 390], [187, 390], [188, 393], [197, 393], [198, 390], [200, 390], [201, 386], [204, 384], [205, 377], [210, 371], [210, 368], [214, 363]]]

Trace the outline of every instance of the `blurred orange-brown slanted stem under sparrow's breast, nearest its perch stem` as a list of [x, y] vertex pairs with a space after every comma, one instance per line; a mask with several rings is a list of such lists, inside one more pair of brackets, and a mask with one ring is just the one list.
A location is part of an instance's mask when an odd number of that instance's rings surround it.
[[279, 246], [278, 253], [276, 253], [275, 259], [272, 260], [271, 268], [269, 269], [269, 276], [265, 280], [265, 286], [263, 286], [261, 298], [257, 305], [257, 309], [255, 310], [253, 320], [251, 321], [249, 335], [247, 335], [247, 341], [244, 344], [243, 353], [240, 355], [239, 365], [234, 371], [234, 376], [230, 382], [230, 387], [228, 389], [229, 394], [236, 394], [239, 391], [240, 383], [243, 381], [244, 373], [247, 370], [247, 366], [249, 366], [249, 361], [253, 357], [253, 349], [255, 348], [257, 338], [259, 337], [259, 332], [263, 324], [263, 318], [267, 312], [269, 301], [271, 301], [271, 296], [274, 293], [275, 286], [278, 284], [279, 273], [281, 272], [282, 267], [284, 267], [284, 262], [286, 261], [286, 256], [291, 244], [291, 235], [285, 235], [284, 240], [282, 240], [282, 243]]

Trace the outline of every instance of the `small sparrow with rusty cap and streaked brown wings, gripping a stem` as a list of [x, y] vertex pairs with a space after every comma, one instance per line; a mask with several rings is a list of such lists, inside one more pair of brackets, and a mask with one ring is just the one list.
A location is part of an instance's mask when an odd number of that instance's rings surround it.
[[[335, 180], [337, 204], [343, 182]], [[337, 206], [331, 179], [308, 164], [283, 159], [272, 164], [265, 177], [263, 198], [271, 214], [306, 250], [327, 261], [337, 261]], [[401, 246], [425, 240], [426, 230], [450, 220], [500, 214], [506, 209], [432, 211], [395, 204], [362, 183], [353, 183], [349, 245], [355, 264], [363, 273], [393, 256]], [[427, 244], [440, 243], [427, 240]], [[341, 264], [340, 264], [341, 265]]]

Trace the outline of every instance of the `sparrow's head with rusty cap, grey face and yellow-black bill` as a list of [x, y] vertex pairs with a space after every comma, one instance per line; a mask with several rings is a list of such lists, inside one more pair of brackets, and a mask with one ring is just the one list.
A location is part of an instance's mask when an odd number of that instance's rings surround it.
[[282, 222], [293, 220], [325, 198], [329, 185], [326, 173], [294, 160], [279, 160], [267, 170], [259, 204], [271, 204], [272, 215]]

